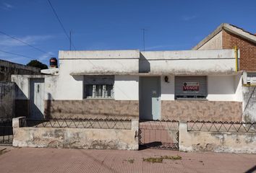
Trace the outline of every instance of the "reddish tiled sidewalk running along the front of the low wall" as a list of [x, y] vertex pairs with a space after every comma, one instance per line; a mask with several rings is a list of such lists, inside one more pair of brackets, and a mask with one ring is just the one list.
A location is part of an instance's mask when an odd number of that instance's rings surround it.
[[[177, 155], [182, 156], [182, 159], [163, 159], [163, 163], [143, 161], [143, 158]], [[248, 171], [256, 172], [255, 154], [184, 153], [156, 149], [117, 151], [56, 148], [8, 148], [6, 153], [0, 154], [0, 172]]]

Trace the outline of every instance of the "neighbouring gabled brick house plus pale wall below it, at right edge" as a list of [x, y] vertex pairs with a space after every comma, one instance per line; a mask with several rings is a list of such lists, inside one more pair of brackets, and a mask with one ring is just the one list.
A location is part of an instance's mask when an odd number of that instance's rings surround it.
[[256, 35], [242, 28], [221, 24], [192, 50], [238, 48], [240, 50], [239, 71], [243, 75], [243, 120], [256, 121]]

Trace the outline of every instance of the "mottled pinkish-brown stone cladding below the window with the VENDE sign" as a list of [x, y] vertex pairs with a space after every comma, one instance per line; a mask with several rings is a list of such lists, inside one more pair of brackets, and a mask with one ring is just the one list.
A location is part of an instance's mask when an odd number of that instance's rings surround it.
[[242, 121], [242, 102], [161, 101], [161, 118], [163, 120]]

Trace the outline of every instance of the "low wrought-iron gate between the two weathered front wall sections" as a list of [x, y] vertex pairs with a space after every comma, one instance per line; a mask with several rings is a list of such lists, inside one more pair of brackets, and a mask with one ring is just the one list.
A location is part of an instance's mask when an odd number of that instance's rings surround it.
[[139, 144], [141, 148], [179, 150], [179, 121], [140, 120]]

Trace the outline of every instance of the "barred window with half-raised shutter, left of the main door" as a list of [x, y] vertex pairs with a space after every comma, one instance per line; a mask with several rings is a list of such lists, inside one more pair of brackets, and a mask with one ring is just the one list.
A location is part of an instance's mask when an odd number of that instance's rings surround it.
[[85, 76], [85, 98], [114, 98], [114, 76]]

